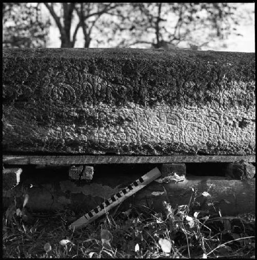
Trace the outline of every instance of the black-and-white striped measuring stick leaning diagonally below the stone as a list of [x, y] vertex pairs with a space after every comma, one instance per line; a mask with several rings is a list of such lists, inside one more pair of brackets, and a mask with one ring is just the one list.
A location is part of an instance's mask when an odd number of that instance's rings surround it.
[[160, 176], [161, 173], [158, 170], [158, 168], [154, 168], [150, 172], [146, 173], [145, 175], [128, 185], [126, 188], [122, 189], [120, 192], [111, 196], [111, 198], [105, 200], [101, 205], [97, 206], [95, 209], [91, 210], [90, 212], [83, 215], [81, 218], [77, 219], [69, 226], [69, 228], [76, 229], [78, 227], [82, 227], [89, 224], [90, 222], [102, 216], [104, 213], [106, 213], [113, 207], [119, 205], [119, 203], [125, 200], [127, 197], [130, 197], [131, 195], [141, 190], [150, 182], [152, 182]]

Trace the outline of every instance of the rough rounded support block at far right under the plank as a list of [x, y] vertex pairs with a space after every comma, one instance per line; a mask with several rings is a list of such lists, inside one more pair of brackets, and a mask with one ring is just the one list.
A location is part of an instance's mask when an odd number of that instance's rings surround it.
[[228, 163], [226, 176], [236, 180], [251, 179], [255, 176], [255, 166], [243, 160]]

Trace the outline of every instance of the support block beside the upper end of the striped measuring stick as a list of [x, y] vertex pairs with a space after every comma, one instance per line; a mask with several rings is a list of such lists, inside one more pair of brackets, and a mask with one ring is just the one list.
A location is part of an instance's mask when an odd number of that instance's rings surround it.
[[183, 181], [186, 178], [185, 163], [163, 163], [161, 165], [161, 181]]

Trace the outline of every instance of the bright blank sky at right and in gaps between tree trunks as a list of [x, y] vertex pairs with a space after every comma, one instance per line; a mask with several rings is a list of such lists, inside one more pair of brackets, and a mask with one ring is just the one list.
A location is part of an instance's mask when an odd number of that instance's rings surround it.
[[[44, 5], [42, 5], [42, 12], [43, 16], [48, 16], [48, 10], [45, 8]], [[248, 12], [255, 10], [254, 3], [247, 3], [244, 5], [244, 9], [246, 9]], [[239, 12], [242, 10], [239, 10]], [[210, 46], [207, 49], [213, 49], [216, 51], [239, 51], [239, 52], [255, 52], [255, 30], [254, 30], [254, 12], [250, 16], [250, 20], [247, 21], [247, 23], [241, 24], [238, 27], [237, 32], [242, 34], [243, 36], [235, 36], [230, 35], [228, 36], [228, 39], [224, 40], [222, 44], [217, 45], [217, 43], [213, 42], [210, 44]], [[49, 41], [47, 44], [48, 48], [60, 48], [61, 41], [60, 41], [60, 33], [58, 28], [56, 27], [53, 20], [51, 20], [52, 25], [50, 27], [49, 31]], [[72, 24], [73, 27], [71, 27], [71, 32], [74, 31], [74, 27], [76, 23]], [[219, 42], [221, 43], [221, 42]], [[75, 44], [76, 48], [83, 48], [83, 34], [82, 29], [80, 28], [77, 34], [77, 42]], [[110, 47], [110, 46], [94, 46], [94, 42], [90, 45], [91, 48], [93, 47]], [[202, 48], [205, 50], [204, 48]]]

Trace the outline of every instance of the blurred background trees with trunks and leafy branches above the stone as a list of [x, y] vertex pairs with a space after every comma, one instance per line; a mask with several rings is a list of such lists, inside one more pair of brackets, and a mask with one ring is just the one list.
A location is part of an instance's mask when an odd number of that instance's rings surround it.
[[[4, 3], [3, 46], [45, 47], [50, 20], [60, 33], [60, 47], [151, 47], [193, 49], [223, 40], [247, 20], [243, 3]], [[46, 16], [47, 16], [46, 15]]]

